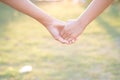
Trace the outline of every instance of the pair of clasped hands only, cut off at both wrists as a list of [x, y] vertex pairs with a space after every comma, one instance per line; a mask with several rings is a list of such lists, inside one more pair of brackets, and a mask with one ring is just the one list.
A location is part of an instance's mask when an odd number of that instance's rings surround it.
[[84, 30], [77, 20], [67, 22], [57, 20], [46, 28], [57, 41], [63, 44], [74, 43]]

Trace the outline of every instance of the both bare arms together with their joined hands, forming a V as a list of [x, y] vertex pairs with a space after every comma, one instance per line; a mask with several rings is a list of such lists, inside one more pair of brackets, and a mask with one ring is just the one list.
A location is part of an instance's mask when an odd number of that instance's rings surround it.
[[36, 19], [51, 35], [64, 44], [72, 44], [86, 26], [99, 16], [114, 0], [92, 0], [78, 19], [62, 22], [42, 11], [30, 0], [0, 0], [10, 7]]

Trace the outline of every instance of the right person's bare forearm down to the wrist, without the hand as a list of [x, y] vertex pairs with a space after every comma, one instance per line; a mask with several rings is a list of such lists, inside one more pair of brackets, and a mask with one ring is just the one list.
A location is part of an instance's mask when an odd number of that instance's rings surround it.
[[87, 26], [97, 16], [99, 16], [113, 0], [93, 0], [87, 9], [78, 18], [78, 22], [81, 22], [83, 26]]

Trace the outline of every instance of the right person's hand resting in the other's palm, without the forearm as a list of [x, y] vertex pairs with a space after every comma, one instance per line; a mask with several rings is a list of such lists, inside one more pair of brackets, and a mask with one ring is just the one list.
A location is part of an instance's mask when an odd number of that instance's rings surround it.
[[66, 27], [61, 31], [61, 36], [68, 41], [68, 44], [72, 44], [76, 41], [83, 30], [84, 27], [82, 27], [77, 20], [70, 20], [67, 22]]

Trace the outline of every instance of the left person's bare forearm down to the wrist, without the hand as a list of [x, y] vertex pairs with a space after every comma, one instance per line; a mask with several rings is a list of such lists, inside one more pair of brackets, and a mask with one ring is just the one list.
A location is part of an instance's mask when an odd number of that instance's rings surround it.
[[15, 8], [16, 10], [25, 13], [37, 21], [47, 26], [53, 21], [53, 17], [43, 12], [40, 8], [35, 6], [29, 0], [1, 0], [3, 3]]

